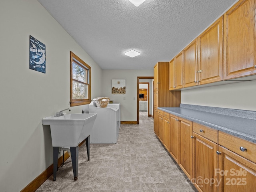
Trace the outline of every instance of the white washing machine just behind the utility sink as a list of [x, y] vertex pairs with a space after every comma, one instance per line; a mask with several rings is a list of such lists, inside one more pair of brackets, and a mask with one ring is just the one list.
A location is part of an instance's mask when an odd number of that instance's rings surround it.
[[91, 144], [114, 144], [119, 135], [119, 109], [115, 106], [96, 107], [92, 101], [89, 113], [97, 113], [92, 132]]

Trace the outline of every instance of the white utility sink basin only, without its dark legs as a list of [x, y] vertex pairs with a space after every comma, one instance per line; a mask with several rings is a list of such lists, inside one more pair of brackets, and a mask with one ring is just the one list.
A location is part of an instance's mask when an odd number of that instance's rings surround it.
[[96, 113], [73, 113], [42, 119], [43, 125], [50, 125], [52, 146], [76, 147], [91, 131]]

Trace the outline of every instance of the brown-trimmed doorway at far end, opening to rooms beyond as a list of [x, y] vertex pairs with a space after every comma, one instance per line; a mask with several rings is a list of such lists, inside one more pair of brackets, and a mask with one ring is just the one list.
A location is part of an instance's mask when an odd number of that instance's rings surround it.
[[[153, 113], [153, 94], [151, 94], [153, 93], [152, 79], [154, 79], [154, 77], [137, 77], [137, 124], [140, 123], [140, 113], [143, 113], [143, 118], [151, 117]], [[143, 85], [141, 89], [140, 84]]]

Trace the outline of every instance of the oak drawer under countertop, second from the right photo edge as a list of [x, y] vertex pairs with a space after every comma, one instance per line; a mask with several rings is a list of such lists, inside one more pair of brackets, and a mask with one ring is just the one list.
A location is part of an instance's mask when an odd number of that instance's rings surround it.
[[218, 130], [206, 127], [204, 125], [193, 122], [193, 131], [198, 135], [205, 137], [215, 143], [218, 143]]

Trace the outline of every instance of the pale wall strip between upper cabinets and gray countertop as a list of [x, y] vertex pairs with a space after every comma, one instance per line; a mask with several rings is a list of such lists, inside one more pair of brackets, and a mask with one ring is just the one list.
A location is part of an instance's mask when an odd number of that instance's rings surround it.
[[181, 91], [181, 103], [256, 111], [256, 80]]

